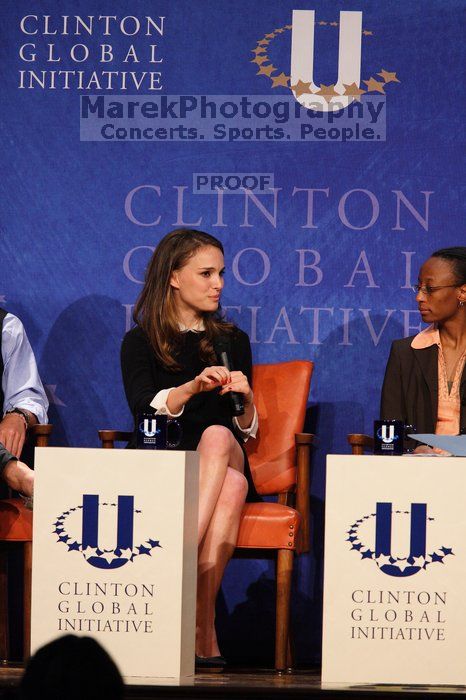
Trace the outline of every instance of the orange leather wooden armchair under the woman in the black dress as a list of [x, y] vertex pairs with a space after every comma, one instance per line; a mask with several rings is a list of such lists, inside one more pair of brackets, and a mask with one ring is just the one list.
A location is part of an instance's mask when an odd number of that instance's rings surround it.
[[[290, 597], [293, 560], [309, 551], [310, 446], [314, 436], [302, 433], [313, 371], [308, 361], [253, 367], [254, 403], [259, 433], [248, 440], [251, 473], [260, 495], [277, 502], [246, 503], [234, 556], [270, 558], [277, 562], [275, 668], [292, 663]], [[131, 433], [99, 430], [102, 447], [128, 441]]]

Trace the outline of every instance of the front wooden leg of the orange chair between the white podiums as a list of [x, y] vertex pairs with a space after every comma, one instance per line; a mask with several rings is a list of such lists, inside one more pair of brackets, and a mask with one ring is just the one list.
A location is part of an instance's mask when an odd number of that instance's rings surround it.
[[291, 549], [278, 550], [275, 631], [275, 668], [277, 671], [284, 671], [287, 668], [293, 557], [294, 552]]

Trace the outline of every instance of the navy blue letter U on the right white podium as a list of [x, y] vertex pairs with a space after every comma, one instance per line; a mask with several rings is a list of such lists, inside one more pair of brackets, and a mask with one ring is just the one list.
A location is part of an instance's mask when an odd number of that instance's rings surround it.
[[[398, 566], [386, 564], [381, 566], [384, 573], [390, 576], [412, 576], [420, 569], [414, 564], [417, 557], [426, 555], [427, 504], [411, 503], [411, 531], [409, 556], [406, 558], [409, 566], [401, 570]], [[394, 557], [392, 552], [392, 504], [377, 503], [375, 526], [375, 557], [390, 557], [394, 563], [405, 561]]]

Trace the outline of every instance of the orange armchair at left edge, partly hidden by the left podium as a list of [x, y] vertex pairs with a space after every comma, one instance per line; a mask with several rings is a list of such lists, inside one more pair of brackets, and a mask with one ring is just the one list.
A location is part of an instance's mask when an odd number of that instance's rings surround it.
[[[30, 439], [38, 447], [47, 447], [51, 425], [34, 425]], [[32, 511], [21, 498], [0, 500], [0, 660], [9, 657], [8, 624], [8, 547], [23, 550], [23, 654], [26, 659], [31, 646], [31, 567]]]

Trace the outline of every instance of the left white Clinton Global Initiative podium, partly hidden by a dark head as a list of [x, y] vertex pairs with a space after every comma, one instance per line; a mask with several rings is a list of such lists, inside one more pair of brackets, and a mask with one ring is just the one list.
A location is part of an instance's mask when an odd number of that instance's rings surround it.
[[198, 456], [37, 448], [32, 652], [97, 639], [128, 683], [194, 674]]

